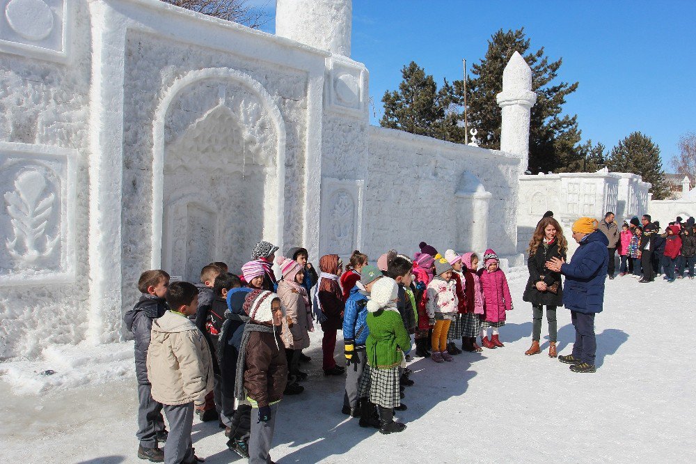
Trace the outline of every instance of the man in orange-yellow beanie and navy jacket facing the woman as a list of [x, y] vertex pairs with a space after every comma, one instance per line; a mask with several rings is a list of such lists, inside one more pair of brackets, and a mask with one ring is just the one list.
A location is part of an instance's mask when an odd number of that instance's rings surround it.
[[596, 219], [580, 217], [573, 224], [573, 238], [578, 249], [570, 263], [551, 258], [546, 268], [566, 277], [563, 304], [571, 311], [575, 327], [573, 353], [558, 360], [571, 364], [573, 372], [594, 372], [597, 342], [594, 337], [594, 315], [601, 313], [604, 302], [606, 265], [609, 258], [606, 235], [596, 230]]

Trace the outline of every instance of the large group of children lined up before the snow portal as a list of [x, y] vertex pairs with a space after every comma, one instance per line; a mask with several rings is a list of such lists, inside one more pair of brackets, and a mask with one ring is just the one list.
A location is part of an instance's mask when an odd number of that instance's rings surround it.
[[[308, 376], [300, 365], [310, 358], [302, 350], [315, 323], [324, 332], [324, 374], [346, 377], [342, 412], [385, 434], [406, 428], [394, 415], [406, 410], [401, 400], [413, 385], [406, 367], [411, 335], [415, 355], [436, 363], [482, 350], [479, 336], [485, 348], [503, 346], [498, 329], [512, 298], [491, 249], [481, 269], [474, 253], [441, 255], [421, 242], [413, 260], [390, 250], [377, 267], [356, 251], [345, 272], [338, 255], [325, 255], [319, 273], [306, 249], [276, 258], [277, 251], [258, 242], [239, 276], [225, 263], [210, 263], [196, 285], [170, 282], [164, 270], [143, 272], [143, 295], [124, 316], [135, 337], [139, 458], [202, 461], [191, 443], [196, 412], [202, 421], [219, 420], [230, 450], [250, 463], [271, 462], [278, 403], [304, 390]], [[338, 330], [345, 367], [333, 355]]]

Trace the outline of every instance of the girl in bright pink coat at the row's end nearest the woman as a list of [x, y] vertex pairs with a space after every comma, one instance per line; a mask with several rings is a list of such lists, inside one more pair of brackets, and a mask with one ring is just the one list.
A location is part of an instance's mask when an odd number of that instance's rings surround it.
[[[500, 343], [498, 328], [505, 325], [505, 311], [512, 310], [512, 296], [507, 286], [505, 272], [500, 269], [500, 260], [496, 252], [487, 249], [483, 255], [484, 268], [479, 270], [481, 288], [484, 294], [484, 311], [481, 324], [481, 341], [485, 348], [505, 346]], [[489, 340], [486, 329], [491, 327], [493, 334]]]

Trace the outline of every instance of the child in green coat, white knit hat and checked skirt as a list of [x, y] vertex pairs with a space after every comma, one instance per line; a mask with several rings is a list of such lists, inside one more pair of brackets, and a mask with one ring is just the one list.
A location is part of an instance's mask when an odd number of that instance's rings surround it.
[[394, 408], [401, 405], [399, 367], [406, 366], [404, 353], [411, 351], [411, 337], [397, 309], [398, 286], [383, 277], [372, 286], [367, 302], [367, 366], [361, 377], [358, 397], [370, 396], [379, 406], [380, 433], [401, 432], [406, 428], [394, 422]]

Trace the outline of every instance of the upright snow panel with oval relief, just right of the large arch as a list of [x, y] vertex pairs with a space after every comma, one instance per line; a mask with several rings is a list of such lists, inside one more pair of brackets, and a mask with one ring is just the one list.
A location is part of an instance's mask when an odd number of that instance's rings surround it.
[[322, 254], [350, 256], [362, 242], [363, 180], [322, 179]]

